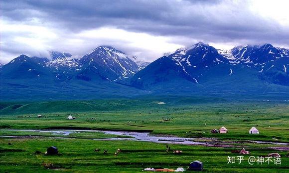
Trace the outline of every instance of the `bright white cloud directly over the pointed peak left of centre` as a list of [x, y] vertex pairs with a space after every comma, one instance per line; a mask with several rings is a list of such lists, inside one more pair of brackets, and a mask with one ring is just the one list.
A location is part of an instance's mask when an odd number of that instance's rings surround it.
[[[139, 56], [143, 60], [155, 60], [163, 55], [164, 52], [175, 50], [183, 45], [173, 43], [173, 37], [154, 36], [147, 33], [126, 31], [124, 29], [102, 27], [82, 31], [76, 35], [76, 38], [83, 40], [103, 40], [103, 43], [116, 46], [126, 51], [128, 54]], [[95, 44], [89, 45], [94, 48]], [[142, 50], [142, 51], [140, 51]]]

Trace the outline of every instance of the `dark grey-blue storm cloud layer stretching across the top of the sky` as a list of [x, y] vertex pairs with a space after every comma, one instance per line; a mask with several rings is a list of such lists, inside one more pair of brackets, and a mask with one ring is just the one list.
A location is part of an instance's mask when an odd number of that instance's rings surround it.
[[[287, 45], [289, 29], [248, 9], [248, 1], [221, 0], [1, 0], [1, 17], [25, 22], [40, 19], [72, 33], [115, 27], [156, 36], [205, 42]], [[142, 41], [142, 40], [140, 40]]]

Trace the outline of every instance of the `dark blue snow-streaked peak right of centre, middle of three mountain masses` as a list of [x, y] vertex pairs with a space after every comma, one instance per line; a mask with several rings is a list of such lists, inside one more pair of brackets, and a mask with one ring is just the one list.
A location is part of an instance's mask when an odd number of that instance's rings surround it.
[[215, 74], [230, 75], [228, 59], [220, 55], [214, 47], [199, 42], [191, 47], [177, 49], [174, 53], [152, 62], [137, 73], [131, 83], [142, 87], [179, 78], [199, 83], [202, 76], [215, 66], [220, 68]]

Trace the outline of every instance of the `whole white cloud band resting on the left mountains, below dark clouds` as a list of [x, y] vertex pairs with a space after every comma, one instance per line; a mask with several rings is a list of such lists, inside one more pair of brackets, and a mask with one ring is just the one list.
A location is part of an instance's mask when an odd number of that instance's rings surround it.
[[[175, 50], [182, 45], [172, 43], [171, 37], [154, 36], [147, 33], [124, 29], [101, 27], [78, 33], [63, 32], [48, 26], [37, 26], [3, 21], [0, 32], [5, 35], [1, 47], [15, 49], [14, 53], [3, 53], [1, 62], [8, 62], [19, 54], [48, 56], [49, 50], [65, 51], [81, 57], [99, 45], [112, 45], [128, 54], [152, 61], [164, 52]], [[14, 48], [11, 48], [13, 44]]]

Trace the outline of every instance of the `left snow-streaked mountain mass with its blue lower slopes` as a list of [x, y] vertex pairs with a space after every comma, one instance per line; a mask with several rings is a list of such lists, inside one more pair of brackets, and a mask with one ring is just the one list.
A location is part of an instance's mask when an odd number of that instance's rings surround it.
[[128, 55], [109, 46], [80, 59], [59, 52], [51, 58], [20, 55], [0, 68], [0, 95], [3, 100], [135, 96], [143, 91], [114, 80], [139, 70]]

